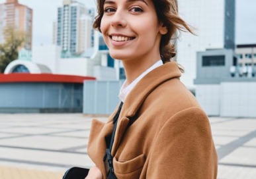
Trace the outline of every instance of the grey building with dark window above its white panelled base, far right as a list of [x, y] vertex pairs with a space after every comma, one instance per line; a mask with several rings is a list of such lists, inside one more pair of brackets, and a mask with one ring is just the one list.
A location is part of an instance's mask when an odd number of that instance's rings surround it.
[[256, 117], [256, 78], [233, 49], [197, 53], [196, 99], [209, 116]]

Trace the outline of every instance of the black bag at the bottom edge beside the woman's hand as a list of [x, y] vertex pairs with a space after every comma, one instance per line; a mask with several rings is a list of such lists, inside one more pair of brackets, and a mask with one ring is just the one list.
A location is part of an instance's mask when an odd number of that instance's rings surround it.
[[85, 179], [89, 172], [87, 168], [72, 167], [67, 170], [62, 179]]

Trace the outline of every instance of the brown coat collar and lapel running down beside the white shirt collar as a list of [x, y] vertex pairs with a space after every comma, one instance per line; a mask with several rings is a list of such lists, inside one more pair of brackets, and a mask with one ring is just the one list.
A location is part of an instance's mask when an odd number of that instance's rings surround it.
[[112, 156], [116, 153], [120, 141], [126, 132], [126, 128], [129, 126], [130, 119], [136, 115], [138, 109], [146, 99], [146, 97], [157, 88], [163, 82], [170, 80], [171, 78], [179, 78], [181, 71], [177, 63], [165, 63], [158, 68], [155, 68], [149, 72], [140, 82], [132, 89], [120, 112], [118, 118], [118, 124], [116, 128], [116, 134], [114, 136], [114, 143], [112, 147]]

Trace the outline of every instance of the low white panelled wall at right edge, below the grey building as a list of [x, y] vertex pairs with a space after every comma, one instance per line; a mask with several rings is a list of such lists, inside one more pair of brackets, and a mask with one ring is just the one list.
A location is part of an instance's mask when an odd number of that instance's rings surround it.
[[196, 86], [196, 99], [209, 116], [256, 117], [256, 81]]

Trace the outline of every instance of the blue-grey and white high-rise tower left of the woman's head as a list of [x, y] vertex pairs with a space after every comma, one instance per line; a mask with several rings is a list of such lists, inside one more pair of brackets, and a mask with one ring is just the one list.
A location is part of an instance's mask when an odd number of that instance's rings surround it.
[[92, 47], [93, 17], [90, 12], [74, 0], [64, 0], [63, 7], [58, 8], [53, 41], [62, 47], [62, 53], [79, 55]]

